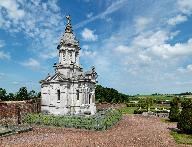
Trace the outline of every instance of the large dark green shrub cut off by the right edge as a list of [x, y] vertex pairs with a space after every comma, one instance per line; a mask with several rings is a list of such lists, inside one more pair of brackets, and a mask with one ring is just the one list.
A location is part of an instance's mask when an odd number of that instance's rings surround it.
[[192, 133], [192, 100], [186, 99], [181, 106], [183, 108], [177, 127], [187, 133]]

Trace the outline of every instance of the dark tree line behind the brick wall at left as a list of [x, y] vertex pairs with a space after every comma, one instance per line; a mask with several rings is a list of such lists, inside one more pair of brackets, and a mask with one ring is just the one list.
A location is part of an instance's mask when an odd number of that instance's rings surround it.
[[7, 93], [5, 89], [0, 88], [0, 100], [2, 101], [23, 101], [40, 98], [41, 93], [31, 90], [28, 92], [26, 87], [21, 87], [16, 93]]

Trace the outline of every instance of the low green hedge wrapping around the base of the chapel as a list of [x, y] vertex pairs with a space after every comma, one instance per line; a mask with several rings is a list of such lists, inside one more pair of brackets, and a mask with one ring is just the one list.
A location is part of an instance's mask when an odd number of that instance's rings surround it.
[[37, 125], [80, 128], [88, 130], [106, 130], [116, 124], [122, 113], [116, 109], [99, 111], [93, 116], [61, 116], [45, 114], [27, 114], [24, 122]]

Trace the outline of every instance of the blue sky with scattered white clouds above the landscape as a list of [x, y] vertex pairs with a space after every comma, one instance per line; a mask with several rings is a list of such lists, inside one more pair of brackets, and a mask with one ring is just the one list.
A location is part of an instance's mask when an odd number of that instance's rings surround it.
[[99, 84], [131, 95], [192, 91], [192, 0], [0, 0], [0, 87], [40, 91], [66, 15]]

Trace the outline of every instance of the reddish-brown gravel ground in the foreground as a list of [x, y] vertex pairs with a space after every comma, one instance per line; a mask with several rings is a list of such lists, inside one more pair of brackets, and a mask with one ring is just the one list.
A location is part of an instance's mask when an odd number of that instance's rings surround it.
[[175, 147], [170, 136], [173, 123], [159, 118], [124, 115], [123, 119], [107, 131], [87, 131], [56, 127], [35, 127], [33, 131], [0, 138], [0, 146], [18, 147]]

